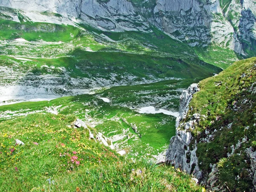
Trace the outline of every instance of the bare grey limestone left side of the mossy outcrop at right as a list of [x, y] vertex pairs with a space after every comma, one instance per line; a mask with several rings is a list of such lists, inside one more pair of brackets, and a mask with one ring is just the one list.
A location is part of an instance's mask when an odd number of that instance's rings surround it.
[[[180, 120], [186, 117], [189, 110], [189, 102], [197, 91], [199, 91], [198, 84], [192, 84], [180, 96], [180, 115], [176, 119], [176, 136], [170, 140], [169, 148], [166, 151], [166, 163], [174, 165], [175, 168], [180, 167], [183, 171], [193, 174], [200, 180], [202, 173], [196, 156], [197, 143], [195, 141], [191, 145], [194, 138], [189, 131], [189, 128], [193, 128], [194, 122], [186, 122], [184, 125], [185, 129], [180, 125]], [[195, 121], [196, 119], [195, 117]]]

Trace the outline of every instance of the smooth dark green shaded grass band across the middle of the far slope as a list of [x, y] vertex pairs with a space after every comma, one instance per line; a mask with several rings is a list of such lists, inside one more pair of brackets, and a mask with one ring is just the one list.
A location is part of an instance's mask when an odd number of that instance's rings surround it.
[[75, 50], [72, 53], [72, 57], [55, 60], [38, 59], [38, 61], [49, 66], [53, 64], [53, 66], [69, 68], [69, 70], [72, 70], [71, 77], [88, 77], [88, 75], [100, 74], [101, 77], [109, 79], [111, 78], [111, 73], [117, 73], [120, 74], [120, 80], [122, 80], [122, 75], [127, 73], [139, 78], [148, 78], [147, 75], [151, 74], [159, 78], [176, 77], [189, 79], [201, 76], [206, 77], [212, 75], [212, 73], [220, 72], [217, 67], [199, 60], [198, 64], [190, 64], [172, 57], [120, 52], [86, 52], [81, 49]]

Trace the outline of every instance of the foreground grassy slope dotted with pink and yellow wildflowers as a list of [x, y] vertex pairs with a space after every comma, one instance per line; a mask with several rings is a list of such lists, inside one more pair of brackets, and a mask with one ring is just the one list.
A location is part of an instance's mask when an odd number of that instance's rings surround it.
[[172, 167], [125, 160], [75, 119], [35, 113], [1, 122], [0, 191], [202, 191]]

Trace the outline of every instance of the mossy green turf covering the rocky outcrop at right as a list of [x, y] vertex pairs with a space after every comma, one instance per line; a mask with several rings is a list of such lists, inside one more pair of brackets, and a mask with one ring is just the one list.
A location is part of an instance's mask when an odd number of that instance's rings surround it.
[[[253, 188], [247, 171], [250, 161], [245, 148], [256, 143], [256, 58], [236, 62], [218, 76], [199, 83], [200, 91], [195, 93], [189, 104], [188, 119], [194, 113], [201, 118], [193, 134], [198, 138], [206, 136], [205, 130], [214, 133], [214, 140], [198, 143], [197, 156], [201, 169], [210, 172], [210, 164], [217, 163], [219, 183], [227, 182], [231, 191], [247, 191]], [[245, 140], [245, 141], [244, 141]], [[231, 154], [232, 145], [235, 147]], [[239, 179], [238, 176], [240, 177]]]

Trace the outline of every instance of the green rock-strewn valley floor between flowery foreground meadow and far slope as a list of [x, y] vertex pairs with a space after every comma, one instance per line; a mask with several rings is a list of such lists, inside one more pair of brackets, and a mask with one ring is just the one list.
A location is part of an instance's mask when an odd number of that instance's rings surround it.
[[[63, 115], [73, 114], [87, 126], [102, 132], [117, 151], [125, 150], [128, 157], [156, 159], [165, 153], [170, 138], [175, 135], [175, 116], [172, 116], [175, 113], [172, 112], [178, 111], [180, 93], [194, 81], [199, 79], [111, 87], [97, 90], [95, 94], [3, 105], [0, 106], [0, 121], [51, 110]], [[107, 102], [100, 99], [102, 97]], [[164, 109], [172, 115], [140, 113], [143, 107]], [[158, 161], [163, 160], [164, 157]]]

